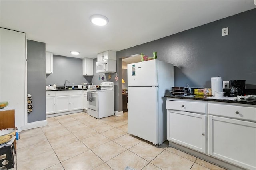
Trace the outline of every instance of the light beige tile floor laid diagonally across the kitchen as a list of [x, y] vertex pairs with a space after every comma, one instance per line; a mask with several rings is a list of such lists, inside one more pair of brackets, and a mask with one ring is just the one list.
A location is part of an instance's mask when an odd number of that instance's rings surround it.
[[87, 113], [47, 118], [20, 132], [17, 170], [224, 170], [168, 146], [128, 134], [128, 113], [96, 119]]

